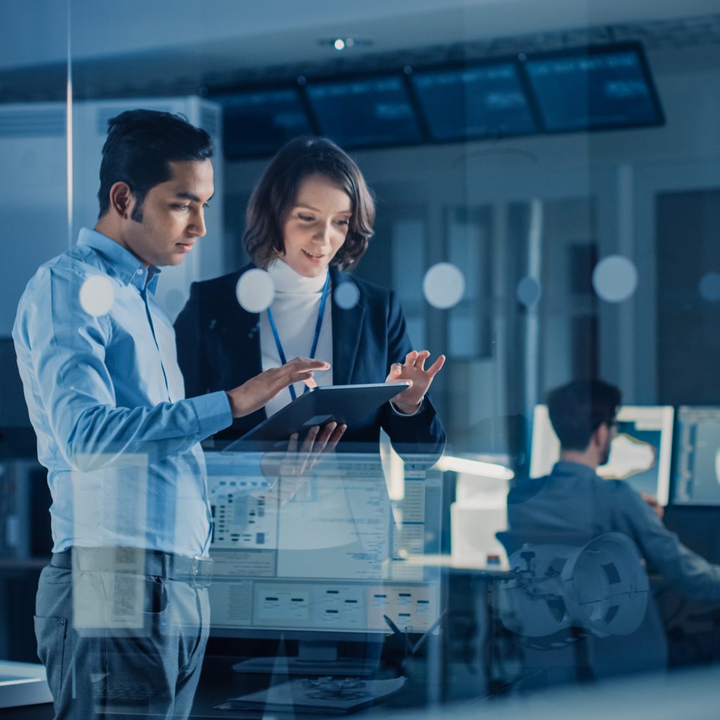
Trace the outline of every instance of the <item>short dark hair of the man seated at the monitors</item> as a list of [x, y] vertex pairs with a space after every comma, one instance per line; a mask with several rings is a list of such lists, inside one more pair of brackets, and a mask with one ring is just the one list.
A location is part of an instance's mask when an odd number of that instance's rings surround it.
[[621, 392], [602, 380], [573, 380], [547, 396], [550, 422], [563, 450], [585, 450], [603, 424], [612, 423]]

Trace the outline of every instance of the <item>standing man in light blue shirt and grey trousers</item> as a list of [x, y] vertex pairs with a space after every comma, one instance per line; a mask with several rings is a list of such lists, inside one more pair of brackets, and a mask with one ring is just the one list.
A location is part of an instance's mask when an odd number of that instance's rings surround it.
[[[184, 399], [153, 295], [159, 267], [205, 234], [211, 156], [209, 135], [181, 117], [111, 120], [94, 230], [42, 265], [19, 302], [13, 338], [53, 495], [35, 629], [58, 717], [189, 713], [209, 622], [199, 441], [328, 367], [295, 359]], [[314, 428], [310, 442], [320, 450], [340, 429]]]

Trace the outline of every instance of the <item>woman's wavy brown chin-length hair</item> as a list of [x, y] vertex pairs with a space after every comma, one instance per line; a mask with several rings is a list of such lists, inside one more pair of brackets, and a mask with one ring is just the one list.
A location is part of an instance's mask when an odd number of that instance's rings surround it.
[[375, 204], [360, 168], [327, 138], [295, 138], [272, 158], [248, 202], [243, 245], [256, 266], [266, 268], [284, 254], [282, 228], [300, 184], [310, 175], [333, 181], [352, 202], [348, 234], [331, 264], [346, 269], [367, 250], [373, 235]]

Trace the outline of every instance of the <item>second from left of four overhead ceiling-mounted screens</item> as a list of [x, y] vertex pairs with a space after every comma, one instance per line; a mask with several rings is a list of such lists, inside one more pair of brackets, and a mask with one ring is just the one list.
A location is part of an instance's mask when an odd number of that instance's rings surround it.
[[305, 91], [323, 135], [343, 148], [422, 140], [400, 76], [310, 82]]

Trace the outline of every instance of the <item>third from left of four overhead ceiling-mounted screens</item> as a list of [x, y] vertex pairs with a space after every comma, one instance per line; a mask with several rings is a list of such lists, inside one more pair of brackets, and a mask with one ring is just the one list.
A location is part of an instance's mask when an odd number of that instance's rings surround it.
[[410, 81], [433, 140], [537, 132], [516, 63], [417, 71]]

